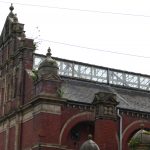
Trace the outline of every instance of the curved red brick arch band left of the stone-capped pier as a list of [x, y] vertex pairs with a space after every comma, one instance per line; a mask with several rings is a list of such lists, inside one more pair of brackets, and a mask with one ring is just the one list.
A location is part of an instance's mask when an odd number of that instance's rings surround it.
[[78, 123], [85, 121], [94, 121], [95, 117], [92, 112], [82, 112], [78, 113], [71, 118], [69, 118], [66, 123], [63, 125], [60, 136], [59, 136], [59, 144], [63, 144], [64, 140], [67, 138], [69, 131]]

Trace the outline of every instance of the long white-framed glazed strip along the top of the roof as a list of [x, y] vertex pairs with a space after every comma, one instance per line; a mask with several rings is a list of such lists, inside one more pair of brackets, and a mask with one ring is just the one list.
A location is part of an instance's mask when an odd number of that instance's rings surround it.
[[[34, 54], [33, 68], [36, 70], [44, 55]], [[137, 88], [150, 91], [150, 76], [133, 72], [105, 68], [60, 58], [54, 58], [62, 76], [87, 79], [95, 82]]]

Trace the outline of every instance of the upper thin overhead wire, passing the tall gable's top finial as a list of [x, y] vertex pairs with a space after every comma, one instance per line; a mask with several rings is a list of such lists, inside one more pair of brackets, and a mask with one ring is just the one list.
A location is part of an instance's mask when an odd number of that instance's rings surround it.
[[[10, 1], [0, 1], [0, 3], [12, 3]], [[50, 9], [60, 9], [60, 10], [69, 10], [69, 11], [80, 11], [80, 12], [90, 12], [90, 13], [103, 13], [103, 14], [112, 14], [112, 15], [124, 15], [124, 16], [134, 16], [134, 17], [150, 17], [149, 15], [143, 14], [131, 14], [131, 13], [120, 13], [120, 12], [109, 12], [109, 11], [99, 11], [99, 10], [88, 10], [88, 9], [78, 9], [78, 8], [67, 8], [67, 7], [57, 7], [57, 6], [46, 6], [46, 5], [37, 5], [37, 4], [27, 4], [27, 3], [16, 3], [16, 5], [31, 6], [31, 7], [45, 7]]]

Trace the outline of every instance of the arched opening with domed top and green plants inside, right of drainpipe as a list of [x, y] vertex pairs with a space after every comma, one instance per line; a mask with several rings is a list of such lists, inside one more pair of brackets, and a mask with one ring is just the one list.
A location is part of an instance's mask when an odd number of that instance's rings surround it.
[[149, 150], [150, 149], [150, 130], [140, 129], [128, 143], [130, 150]]

